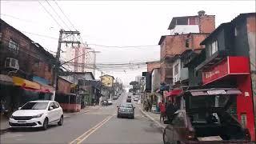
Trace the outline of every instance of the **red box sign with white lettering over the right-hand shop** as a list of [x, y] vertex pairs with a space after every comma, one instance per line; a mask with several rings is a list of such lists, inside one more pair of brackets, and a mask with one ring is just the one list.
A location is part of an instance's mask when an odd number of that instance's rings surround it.
[[227, 57], [215, 66], [202, 71], [204, 85], [230, 74], [250, 74], [249, 61], [246, 57]]

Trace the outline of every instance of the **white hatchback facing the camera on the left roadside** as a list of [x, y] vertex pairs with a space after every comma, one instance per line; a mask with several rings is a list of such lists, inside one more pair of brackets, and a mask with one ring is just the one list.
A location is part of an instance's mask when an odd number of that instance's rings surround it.
[[42, 127], [46, 130], [48, 125], [63, 124], [62, 107], [55, 101], [30, 101], [19, 107], [9, 119], [10, 128]]

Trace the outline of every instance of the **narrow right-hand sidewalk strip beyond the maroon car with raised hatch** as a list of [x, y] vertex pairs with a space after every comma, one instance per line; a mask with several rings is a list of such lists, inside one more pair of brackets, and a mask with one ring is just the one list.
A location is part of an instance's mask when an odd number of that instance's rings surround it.
[[163, 123], [163, 121], [160, 122], [160, 113], [156, 113], [156, 112], [146, 112], [146, 110], [143, 110], [143, 106], [142, 104], [137, 104], [138, 109], [141, 110], [142, 114], [146, 115], [146, 117], [150, 118], [151, 121], [155, 122], [158, 124], [159, 127], [162, 128], [162, 130], [164, 130], [164, 128], [167, 126], [166, 124]]

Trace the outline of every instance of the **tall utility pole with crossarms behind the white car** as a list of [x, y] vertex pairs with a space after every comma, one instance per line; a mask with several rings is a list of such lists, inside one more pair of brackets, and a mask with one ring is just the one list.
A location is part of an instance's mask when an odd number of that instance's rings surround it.
[[80, 32], [79, 31], [65, 31], [63, 29], [59, 30], [58, 50], [57, 50], [57, 53], [56, 53], [55, 66], [54, 66], [54, 76], [53, 76], [53, 81], [52, 81], [52, 85], [54, 86], [54, 96], [53, 96], [52, 100], [54, 100], [55, 95], [56, 95], [57, 90], [58, 90], [58, 70], [59, 70], [59, 68], [61, 66], [59, 58], [61, 56], [62, 43], [66, 43], [66, 44], [71, 43], [72, 46], [73, 46], [73, 44], [80, 45], [80, 42], [78, 42], [78, 41], [66, 41], [66, 40], [63, 41], [63, 39], [62, 39], [62, 35], [63, 34], [66, 34], [66, 35], [70, 34], [70, 36], [71, 35], [74, 36], [74, 34], [78, 34], [79, 35]]

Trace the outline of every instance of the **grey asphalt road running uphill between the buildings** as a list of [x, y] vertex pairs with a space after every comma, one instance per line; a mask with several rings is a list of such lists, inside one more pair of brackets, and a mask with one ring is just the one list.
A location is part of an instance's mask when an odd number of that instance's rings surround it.
[[[102, 106], [84, 114], [64, 119], [63, 126], [15, 130], [2, 134], [0, 143], [94, 143], [94, 144], [160, 144], [162, 131], [135, 108], [135, 118], [117, 118], [117, 107], [126, 102], [122, 94], [112, 106]], [[136, 105], [134, 105], [136, 106]]]

